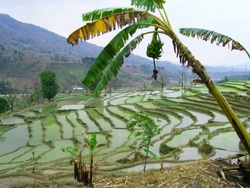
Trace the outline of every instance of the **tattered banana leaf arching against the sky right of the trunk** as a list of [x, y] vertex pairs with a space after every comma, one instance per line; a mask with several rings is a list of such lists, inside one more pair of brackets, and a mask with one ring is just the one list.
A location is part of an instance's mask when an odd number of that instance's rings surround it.
[[250, 58], [248, 51], [239, 42], [226, 35], [199, 28], [181, 28], [180, 33], [188, 37], [197, 37], [198, 39], [202, 39], [204, 41], [211, 41], [211, 44], [216, 42], [218, 46], [220, 44], [222, 44], [223, 47], [228, 45], [231, 50], [245, 51]]

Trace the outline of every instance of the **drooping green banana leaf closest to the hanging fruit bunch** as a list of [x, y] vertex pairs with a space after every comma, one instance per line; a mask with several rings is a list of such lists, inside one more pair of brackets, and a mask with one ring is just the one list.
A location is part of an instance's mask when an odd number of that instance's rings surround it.
[[[97, 97], [102, 89], [108, 85], [108, 82], [118, 75], [118, 71], [123, 65], [124, 57], [128, 57], [129, 54], [136, 48], [136, 46], [142, 41], [143, 35], [139, 35], [133, 40], [131, 40], [121, 51], [117, 54], [115, 59], [108, 64], [107, 68], [102, 72], [99, 77], [99, 82], [93, 91], [93, 95]], [[86, 84], [86, 80], [88, 77], [86, 76], [83, 80], [83, 84]]]

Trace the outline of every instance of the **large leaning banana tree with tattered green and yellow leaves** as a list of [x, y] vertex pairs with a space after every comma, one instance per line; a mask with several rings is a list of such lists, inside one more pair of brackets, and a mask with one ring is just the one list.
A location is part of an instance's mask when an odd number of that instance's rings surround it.
[[[77, 44], [79, 40], [86, 41], [117, 28], [121, 28], [121, 30], [100, 52], [82, 83], [87, 87], [92, 86], [92, 88], [94, 84], [93, 95], [98, 96], [108, 82], [118, 75], [124, 57], [130, 55], [145, 35], [153, 37], [156, 34], [157, 36], [166, 35], [171, 38], [174, 52], [179, 57], [180, 63], [183, 66], [191, 67], [193, 73], [199, 76], [199, 81], [207, 86], [250, 154], [248, 132], [206, 72], [205, 67], [192, 55], [174, 32], [164, 8], [165, 3], [165, 0], [131, 0], [132, 7], [107, 8], [84, 13], [82, 19], [86, 21], [86, 24], [67, 38], [67, 42], [72, 45]], [[155, 15], [156, 11], [159, 16]], [[152, 30], [149, 30], [150, 28]], [[198, 36], [205, 41], [215, 41], [217, 45], [229, 45], [232, 50], [245, 51], [250, 57], [239, 42], [220, 33], [195, 28], [182, 28], [180, 32], [187, 36]], [[157, 74], [157, 71], [154, 71], [155, 73]], [[98, 83], [96, 84], [96, 82]]]

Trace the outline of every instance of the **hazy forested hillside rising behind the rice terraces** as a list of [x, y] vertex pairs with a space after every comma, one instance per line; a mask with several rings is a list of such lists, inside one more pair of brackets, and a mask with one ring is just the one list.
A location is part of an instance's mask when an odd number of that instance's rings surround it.
[[[72, 47], [65, 37], [0, 14], [0, 81], [8, 80], [14, 87], [31, 87], [44, 69], [56, 72], [62, 90], [79, 86], [101, 49], [88, 42]], [[166, 61], [159, 62], [158, 69], [171, 80], [177, 80], [182, 71], [180, 65]], [[152, 61], [131, 54], [125, 59], [119, 79], [123, 86], [143, 86], [151, 83], [152, 70]]]

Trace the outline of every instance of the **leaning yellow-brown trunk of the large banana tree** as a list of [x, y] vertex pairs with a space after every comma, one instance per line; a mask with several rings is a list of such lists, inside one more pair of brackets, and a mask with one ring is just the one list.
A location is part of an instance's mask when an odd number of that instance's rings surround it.
[[[177, 42], [178, 41], [178, 42]], [[177, 55], [180, 58], [180, 62], [185, 64], [187, 62], [187, 66], [191, 66], [193, 69], [192, 71], [196, 73], [200, 81], [204, 83], [207, 88], [209, 89], [209, 92], [213, 95], [214, 99], [219, 104], [220, 108], [226, 115], [227, 119], [233, 126], [235, 132], [237, 133], [238, 137], [240, 138], [241, 142], [245, 146], [248, 155], [250, 155], [250, 135], [227, 102], [227, 100], [224, 98], [222, 93], [218, 90], [215, 83], [212, 81], [210, 76], [208, 75], [205, 67], [195, 59], [195, 57], [192, 55], [192, 53], [185, 47], [178, 39], [173, 42], [174, 46], [177, 47], [178, 52]]]

